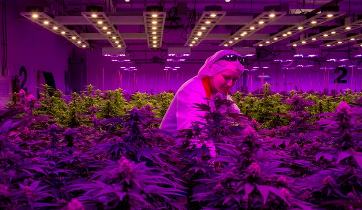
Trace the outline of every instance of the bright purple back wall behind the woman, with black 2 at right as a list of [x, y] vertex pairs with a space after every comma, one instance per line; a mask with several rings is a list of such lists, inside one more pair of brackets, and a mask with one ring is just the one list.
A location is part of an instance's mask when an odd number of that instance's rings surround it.
[[[152, 52], [148, 54], [148, 57], [155, 55]], [[102, 56], [100, 49], [95, 49], [88, 54], [87, 58], [88, 81], [101, 90], [122, 88], [127, 93], [135, 91], [158, 93], [161, 91], [177, 90], [185, 81], [197, 75], [199, 68], [203, 65], [202, 62], [212, 54], [212, 50], [199, 53], [200, 56], [197, 57], [200, 59], [197, 63], [181, 63], [180, 69], [177, 71], [164, 71], [163, 66], [160, 66], [158, 63], [140, 63], [137, 71], [129, 72], [119, 70], [120, 63], [110, 61], [109, 57]], [[158, 54], [158, 56], [160, 55]], [[353, 60], [353, 63], [358, 64], [359, 62], [358, 60]], [[295, 60], [292, 63], [280, 63], [269, 59], [268, 62], [261, 63], [260, 66], [264, 64], [269, 66], [269, 68], [245, 71], [231, 92], [241, 90], [242, 86], [244, 89], [247, 87], [248, 91], [254, 91], [265, 84], [265, 82], [270, 84], [270, 88], [275, 92], [290, 90], [323, 91], [325, 88], [329, 92], [331, 89], [336, 89], [338, 92], [345, 91], [347, 88], [352, 89], [352, 91], [361, 91], [362, 89], [361, 64], [348, 67], [351, 65], [349, 61], [321, 62], [319, 64], [317, 62], [314, 63], [313, 60], [308, 63], [306, 59]], [[296, 67], [297, 65], [306, 66], [308, 64], [314, 66]], [[257, 62], [254, 62], [248, 68], [251, 69], [255, 65], [258, 65]], [[346, 65], [343, 67], [345, 68], [345, 75], [343, 75], [342, 69], [336, 71], [339, 65]], [[267, 75], [269, 77], [261, 79], [260, 75]], [[335, 80], [337, 81], [337, 77], [340, 77], [339, 80], [341, 81], [334, 82]], [[340, 83], [343, 80], [345, 80], [345, 83]]]

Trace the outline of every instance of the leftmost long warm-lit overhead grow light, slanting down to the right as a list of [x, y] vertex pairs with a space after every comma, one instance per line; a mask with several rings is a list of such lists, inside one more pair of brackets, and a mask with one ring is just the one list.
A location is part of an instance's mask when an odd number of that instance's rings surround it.
[[89, 48], [88, 42], [80, 37], [76, 31], [59, 24], [59, 22], [43, 12], [21, 12], [20, 15], [55, 34], [62, 35], [77, 47]]

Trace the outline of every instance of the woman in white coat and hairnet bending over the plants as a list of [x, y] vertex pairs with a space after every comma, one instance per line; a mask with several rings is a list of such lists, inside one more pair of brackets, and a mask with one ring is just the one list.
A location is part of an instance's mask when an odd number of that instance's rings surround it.
[[[222, 99], [231, 100], [227, 95], [244, 71], [243, 58], [233, 50], [220, 50], [209, 57], [200, 68], [198, 75], [186, 81], [175, 93], [174, 98], [162, 119], [160, 129], [168, 132], [187, 129], [191, 122], [200, 121], [203, 116], [195, 103], [209, 104], [207, 98], [220, 94]], [[213, 104], [209, 104], [212, 110]], [[231, 110], [240, 113], [236, 104]]]

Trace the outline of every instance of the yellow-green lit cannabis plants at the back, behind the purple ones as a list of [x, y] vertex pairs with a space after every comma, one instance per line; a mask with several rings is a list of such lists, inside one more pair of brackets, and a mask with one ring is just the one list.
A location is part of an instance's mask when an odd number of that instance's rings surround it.
[[[20, 95], [26, 94], [22, 92]], [[306, 111], [311, 115], [332, 112], [341, 101], [353, 106], [361, 106], [361, 92], [351, 92], [347, 89], [339, 94], [325, 95], [322, 92], [290, 91], [283, 94], [270, 90], [270, 85], [265, 83], [254, 93], [243, 93], [236, 91], [232, 98], [240, 108], [241, 113], [249, 116], [261, 124], [262, 128], [275, 128], [276, 126], [288, 125], [290, 122], [284, 116], [292, 109], [286, 100], [293, 95], [308, 100], [311, 106]], [[19, 94], [15, 94], [10, 104], [19, 101]], [[140, 109], [147, 104], [153, 108], [155, 117], [162, 118], [173, 98], [173, 92], [161, 92], [159, 94], [148, 94], [136, 92], [124, 95], [122, 89], [101, 91], [94, 89], [92, 85], [86, 87], [86, 91], [78, 94], [63, 95], [60, 90], [53, 90], [45, 85], [44, 92], [38, 102], [35, 115], [53, 116], [57, 125], [73, 127], [87, 124], [86, 116], [96, 116], [98, 119], [108, 119], [124, 115], [126, 111], [136, 107]]]

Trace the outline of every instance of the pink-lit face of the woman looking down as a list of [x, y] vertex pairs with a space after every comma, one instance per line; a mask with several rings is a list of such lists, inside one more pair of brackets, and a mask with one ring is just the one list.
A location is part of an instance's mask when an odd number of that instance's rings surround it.
[[237, 69], [227, 69], [210, 77], [210, 87], [213, 94], [217, 92], [228, 92], [234, 86], [236, 80], [239, 79], [241, 71]]

